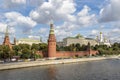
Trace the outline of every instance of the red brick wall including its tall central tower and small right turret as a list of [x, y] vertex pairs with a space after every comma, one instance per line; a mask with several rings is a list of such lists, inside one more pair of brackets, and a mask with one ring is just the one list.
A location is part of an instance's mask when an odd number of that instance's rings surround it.
[[88, 47], [86, 51], [56, 51], [56, 37], [54, 34], [54, 26], [50, 24], [50, 32], [48, 37], [48, 52], [40, 54], [43, 57], [48, 58], [61, 58], [61, 57], [78, 57], [78, 56], [89, 56], [96, 55], [98, 51], [94, 51], [90, 49], [90, 43], [88, 42]]

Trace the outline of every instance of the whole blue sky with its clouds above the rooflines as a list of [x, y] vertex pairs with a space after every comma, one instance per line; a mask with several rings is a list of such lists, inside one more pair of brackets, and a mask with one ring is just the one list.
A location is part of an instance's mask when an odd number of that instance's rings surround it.
[[51, 22], [57, 41], [102, 32], [120, 42], [120, 0], [0, 0], [0, 43], [7, 26], [11, 42], [14, 37], [47, 42]]

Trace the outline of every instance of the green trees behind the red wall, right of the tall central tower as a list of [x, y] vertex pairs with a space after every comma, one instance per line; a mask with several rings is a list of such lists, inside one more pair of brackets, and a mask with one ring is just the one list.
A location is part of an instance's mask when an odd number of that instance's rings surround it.
[[[88, 49], [87, 45], [71, 44], [65, 47], [57, 46], [58, 51], [86, 51]], [[119, 55], [120, 54], [120, 43], [114, 43], [111, 46], [107, 45], [95, 45], [91, 46], [92, 50], [98, 50], [99, 55]]]

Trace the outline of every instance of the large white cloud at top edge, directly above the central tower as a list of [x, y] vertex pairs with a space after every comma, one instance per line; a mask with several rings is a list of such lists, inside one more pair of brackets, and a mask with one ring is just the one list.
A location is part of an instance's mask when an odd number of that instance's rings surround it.
[[49, 23], [53, 21], [69, 20], [76, 10], [73, 0], [49, 0], [41, 6], [32, 10], [30, 17], [38, 23]]

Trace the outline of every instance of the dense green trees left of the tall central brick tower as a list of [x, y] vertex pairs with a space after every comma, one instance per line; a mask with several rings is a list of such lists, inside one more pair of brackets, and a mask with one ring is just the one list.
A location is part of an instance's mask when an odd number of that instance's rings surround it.
[[9, 46], [0, 45], [0, 59], [6, 60], [10, 59], [13, 56], [20, 57], [22, 59], [29, 59], [29, 58], [41, 58], [42, 56], [35, 54], [36, 51], [47, 51], [47, 44], [40, 43], [40, 44], [33, 44], [32, 46], [28, 44], [19, 44], [12, 47], [12, 50]]

